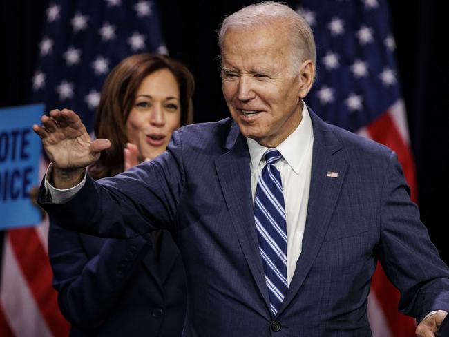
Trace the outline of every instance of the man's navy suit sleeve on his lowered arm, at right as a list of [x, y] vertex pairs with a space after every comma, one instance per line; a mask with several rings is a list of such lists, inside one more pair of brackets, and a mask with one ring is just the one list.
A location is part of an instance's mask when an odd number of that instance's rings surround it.
[[399, 309], [418, 322], [437, 309], [449, 311], [449, 271], [410, 200], [397, 155], [390, 155], [381, 196], [378, 256], [401, 292]]

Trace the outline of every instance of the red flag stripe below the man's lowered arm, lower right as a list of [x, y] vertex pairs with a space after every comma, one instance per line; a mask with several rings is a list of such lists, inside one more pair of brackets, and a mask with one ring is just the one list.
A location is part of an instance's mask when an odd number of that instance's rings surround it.
[[385, 316], [385, 319], [388, 321], [392, 336], [416, 336], [414, 333], [417, 328], [416, 322], [410, 316], [405, 316], [398, 311], [399, 291], [392, 285], [387, 276], [385, 276], [385, 272], [380, 263], [377, 263], [371, 286], [382, 307], [383, 316]]

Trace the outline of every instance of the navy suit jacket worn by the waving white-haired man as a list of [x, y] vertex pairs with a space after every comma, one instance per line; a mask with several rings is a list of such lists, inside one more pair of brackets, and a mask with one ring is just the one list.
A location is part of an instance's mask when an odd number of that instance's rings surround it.
[[[183, 336], [371, 336], [376, 262], [421, 320], [449, 311], [449, 271], [410, 201], [397, 155], [311, 112], [314, 148], [303, 251], [276, 317], [258, 249], [250, 157], [232, 119], [184, 126], [166, 153], [75, 198], [39, 201], [67, 228], [129, 238], [173, 231], [187, 274]], [[327, 175], [338, 173], [338, 177]]]

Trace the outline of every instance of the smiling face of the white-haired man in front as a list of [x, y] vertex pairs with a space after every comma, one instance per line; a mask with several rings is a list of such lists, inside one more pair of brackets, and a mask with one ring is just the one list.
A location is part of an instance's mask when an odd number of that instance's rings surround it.
[[276, 24], [229, 28], [222, 44], [227, 106], [242, 134], [267, 147], [283, 142], [302, 117], [303, 77], [292, 66], [285, 35]]

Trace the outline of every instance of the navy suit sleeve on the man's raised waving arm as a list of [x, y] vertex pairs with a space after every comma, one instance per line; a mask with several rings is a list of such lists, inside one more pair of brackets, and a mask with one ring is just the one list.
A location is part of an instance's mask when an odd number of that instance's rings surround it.
[[175, 230], [184, 185], [179, 133], [151, 162], [86, 184], [65, 204], [52, 204], [41, 184], [38, 202], [66, 229], [105, 238], [134, 238], [152, 229]]

